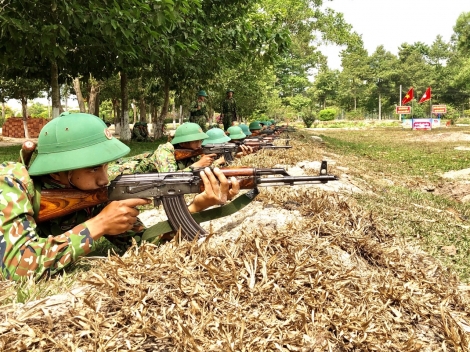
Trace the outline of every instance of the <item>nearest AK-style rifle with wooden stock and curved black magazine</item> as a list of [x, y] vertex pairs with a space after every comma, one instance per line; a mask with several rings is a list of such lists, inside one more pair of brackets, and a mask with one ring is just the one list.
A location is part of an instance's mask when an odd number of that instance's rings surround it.
[[[337, 176], [328, 174], [326, 161], [322, 161], [318, 176], [290, 176], [283, 168], [241, 167], [221, 170], [226, 177], [239, 178], [240, 189], [257, 190], [259, 186], [295, 186], [338, 180]], [[184, 200], [185, 194], [201, 193], [204, 190], [199, 171], [120, 175], [108, 187], [95, 191], [44, 189], [41, 191], [36, 221], [51, 220], [113, 200], [152, 198], [155, 206], [163, 204], [173, 231], [181, 230], [183, 238], [192, 240], [198, 234], [206, 234], [192, 218]]]

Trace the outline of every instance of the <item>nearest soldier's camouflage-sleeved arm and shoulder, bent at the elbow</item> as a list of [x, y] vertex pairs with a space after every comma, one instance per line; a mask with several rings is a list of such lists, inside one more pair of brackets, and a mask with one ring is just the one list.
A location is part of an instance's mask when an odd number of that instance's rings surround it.
[[1, 164], [0, 179], [0, 264], [6, 279], [54, 274], [94, 249], [85, 224], [58, 236], [39, 236], [33, 217], [34, 184], [24, 165]]

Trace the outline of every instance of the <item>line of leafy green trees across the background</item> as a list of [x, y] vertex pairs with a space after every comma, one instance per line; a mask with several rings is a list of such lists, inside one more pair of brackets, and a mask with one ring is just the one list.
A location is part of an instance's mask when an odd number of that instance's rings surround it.
[[[74, 94], [80, 111], [118, 127], [136, 114], [154, 124], [156, 137], [167, 113], [181, 105], [186, 116], [200, 89], [211, 112], [227, 88], [235, 90], [246, 119], [325, 108], [382, 118], [394, 111], [400, 85], [417, 94], [432, 86], [433, 101], [463, 111], [469, 22], [469, 13], [457, 19], [449, 43], [404, 43], [395, 56], [383, 47], [369, 54], [322, 0], [7, 0], [0, 5], [0, 102], [18, 99], [26, 117], [28, 100], [45, 94], [56, 117], [66, 108], [61, 98]], [[342, 70], [328, 68], [319, 51], [325, 42], [344, 46]], [[130, 140], [128, 129], [120, 134]]]

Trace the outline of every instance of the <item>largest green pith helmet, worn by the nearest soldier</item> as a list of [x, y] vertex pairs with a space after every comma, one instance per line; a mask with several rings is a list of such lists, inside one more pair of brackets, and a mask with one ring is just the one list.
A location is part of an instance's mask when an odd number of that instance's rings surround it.
[[38, 155], [29, 168], [31, 176], [97, 166], [129, 153], [100, 118], [64, 112], [39, 133]]

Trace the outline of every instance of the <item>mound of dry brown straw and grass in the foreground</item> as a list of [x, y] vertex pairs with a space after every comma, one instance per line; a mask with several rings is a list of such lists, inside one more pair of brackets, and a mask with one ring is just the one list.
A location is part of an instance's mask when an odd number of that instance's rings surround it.
[[[325, 154], [307, 142], [245, 162], [312, 174]], [[263, 190], [205, 239], [92, 260], [73, 292], [2, 307], [0, 350], [468, 351], [469, 286], [331, 172], [335, 192]]]

